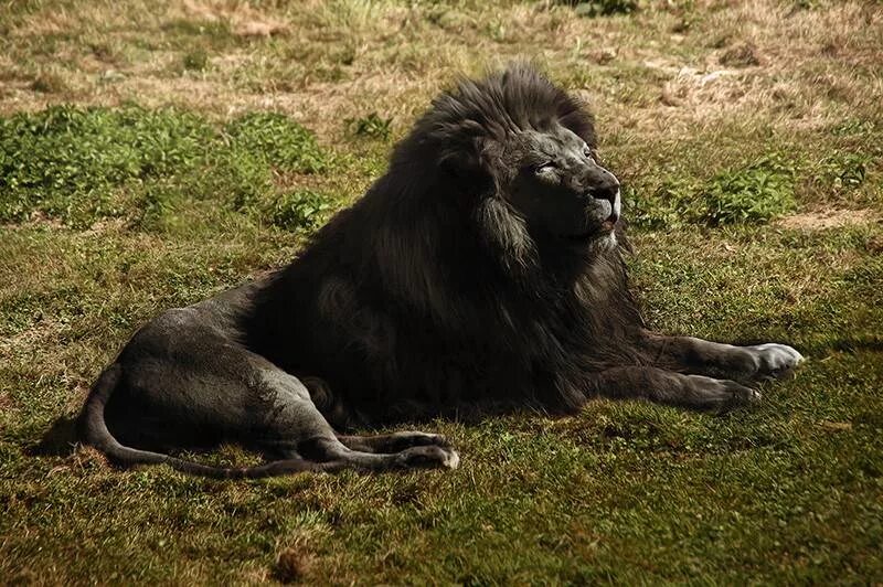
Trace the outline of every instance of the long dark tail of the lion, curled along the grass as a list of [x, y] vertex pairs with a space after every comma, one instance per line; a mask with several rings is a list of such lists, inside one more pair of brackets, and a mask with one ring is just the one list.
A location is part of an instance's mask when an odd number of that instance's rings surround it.
[[107, 457], [124, 466], [166, 463], [179, 471], [210, 477], [213, 479], [258, 479], [322, 469], [321, 465], [305, 459], [286, 459], [258, 467], [212, 467], [199, 462], [178, 459], [161, 452], [126, 447], [114, 438], [104, 419], [104, 408], [110, 394], [119, 383], [123, 367], [114, 363], [102, 373], [92, 387], [88, 399], [79, 415], [79, 437], [89, 446], [97, 448]]

